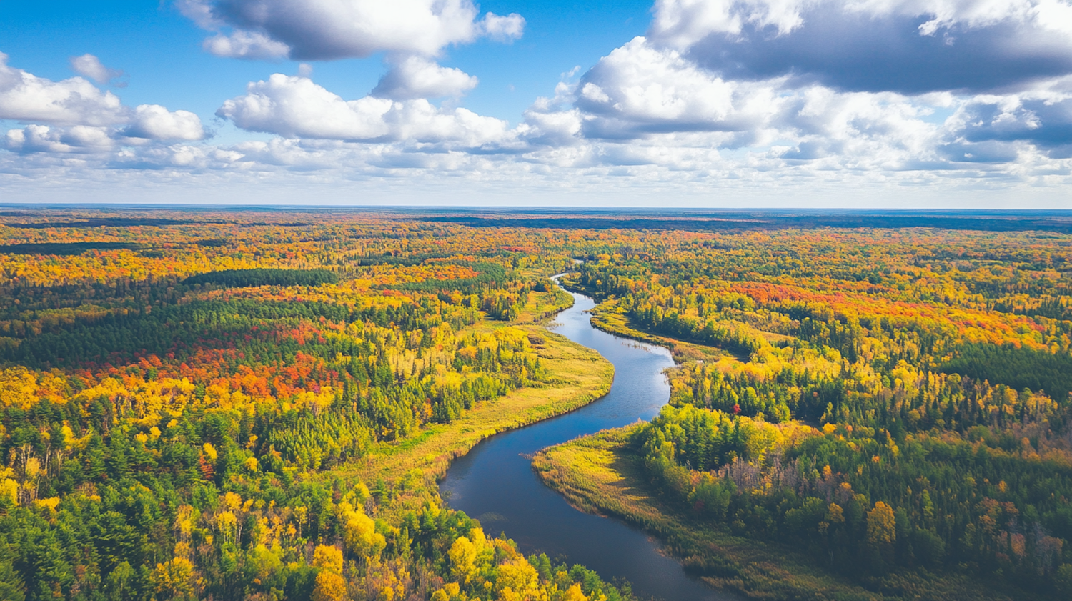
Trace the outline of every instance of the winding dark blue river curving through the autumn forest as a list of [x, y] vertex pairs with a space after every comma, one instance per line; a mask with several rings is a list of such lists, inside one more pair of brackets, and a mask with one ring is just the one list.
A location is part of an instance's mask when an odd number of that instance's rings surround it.
[[524, 553], [547, 553], [599, 572], [606, 580], [632, 583], [640, 598], [666, 601], [729, 601], [735, 597], [703, 586], [662, 554], [657, 541], [613, 519], [583, 513], [542, 484], [530, 455], [540, 449], [650, 420], [670, 397], [662, 371], [673, 365], [665, 348], [596, 330], [589, 310], [595, 302], [574, 294], [574, 306], [550, 329], [594, 348], [614, 364], [607, 396], [576, 411], [505, 432], [456, 460], [441, 484], [450, 507], [478, 517], [489, 534], [505, 532]]

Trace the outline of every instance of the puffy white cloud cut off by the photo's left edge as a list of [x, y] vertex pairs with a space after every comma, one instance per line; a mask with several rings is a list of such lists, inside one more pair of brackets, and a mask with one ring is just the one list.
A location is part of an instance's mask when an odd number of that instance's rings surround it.
[[0, 52], [0, 119], [50, 125], [111, 125], [123, 121], [123, 106], [81, 77], [53, 81], [8, 65]]

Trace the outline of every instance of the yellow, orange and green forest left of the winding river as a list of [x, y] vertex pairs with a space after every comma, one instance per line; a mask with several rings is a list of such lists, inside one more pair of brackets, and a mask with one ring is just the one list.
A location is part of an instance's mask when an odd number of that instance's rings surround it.
[[513, 324], [568, 304], [568, 257], [232, 216], [0, 227], [0, 598], [631, 598], [486, 536], [435, 474], [354, 469], [560, 386]]

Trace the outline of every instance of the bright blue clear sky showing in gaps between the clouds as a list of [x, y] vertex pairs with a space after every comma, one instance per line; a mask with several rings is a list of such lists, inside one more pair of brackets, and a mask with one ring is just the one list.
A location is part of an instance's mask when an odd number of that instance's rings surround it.
[[[478, 41], [450, 47], [442, 62], [479, 77], [466, 107], [517, 122], [533, 99], [553, 93], [562, 73], [587, 69], [623, 40], [643, 34], [652, 3], [496, 0], [479, 6], [522, 14], [524, 36], [512, 44]], [[70, 57], [92, 54], [130, 76], [117, 90], [126, 104], [164, 104], [208, 119], [247, 82], [298, 71], [297, 61], [214, 57], [202, 49], [205, 31], [174, 3], [0, 1], [0, 51], [10, 64], [60, 80], [75, 75]], [[382, 55], [313, 66], [318, 82], [347, 99], [367, 94], [386, 71]]]

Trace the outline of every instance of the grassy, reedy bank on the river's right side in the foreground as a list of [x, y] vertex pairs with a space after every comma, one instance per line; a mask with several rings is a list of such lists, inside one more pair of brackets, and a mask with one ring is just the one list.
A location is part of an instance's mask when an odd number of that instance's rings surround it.
[[854, 582], [833, 574], [816, 558], [788, 545], [734, 536], [695, 517], [649, 485], [640, 459], [628, 446], [639, 425], [608, 430], [545, 449], [533, 468], [581, 511], [624, 520], [658, 536], [666, 550], [710, 586], [750, 599], [839, 601], [1013, 601], [1039, 599], [1003, 592], [961, 574], [923, 570]]

